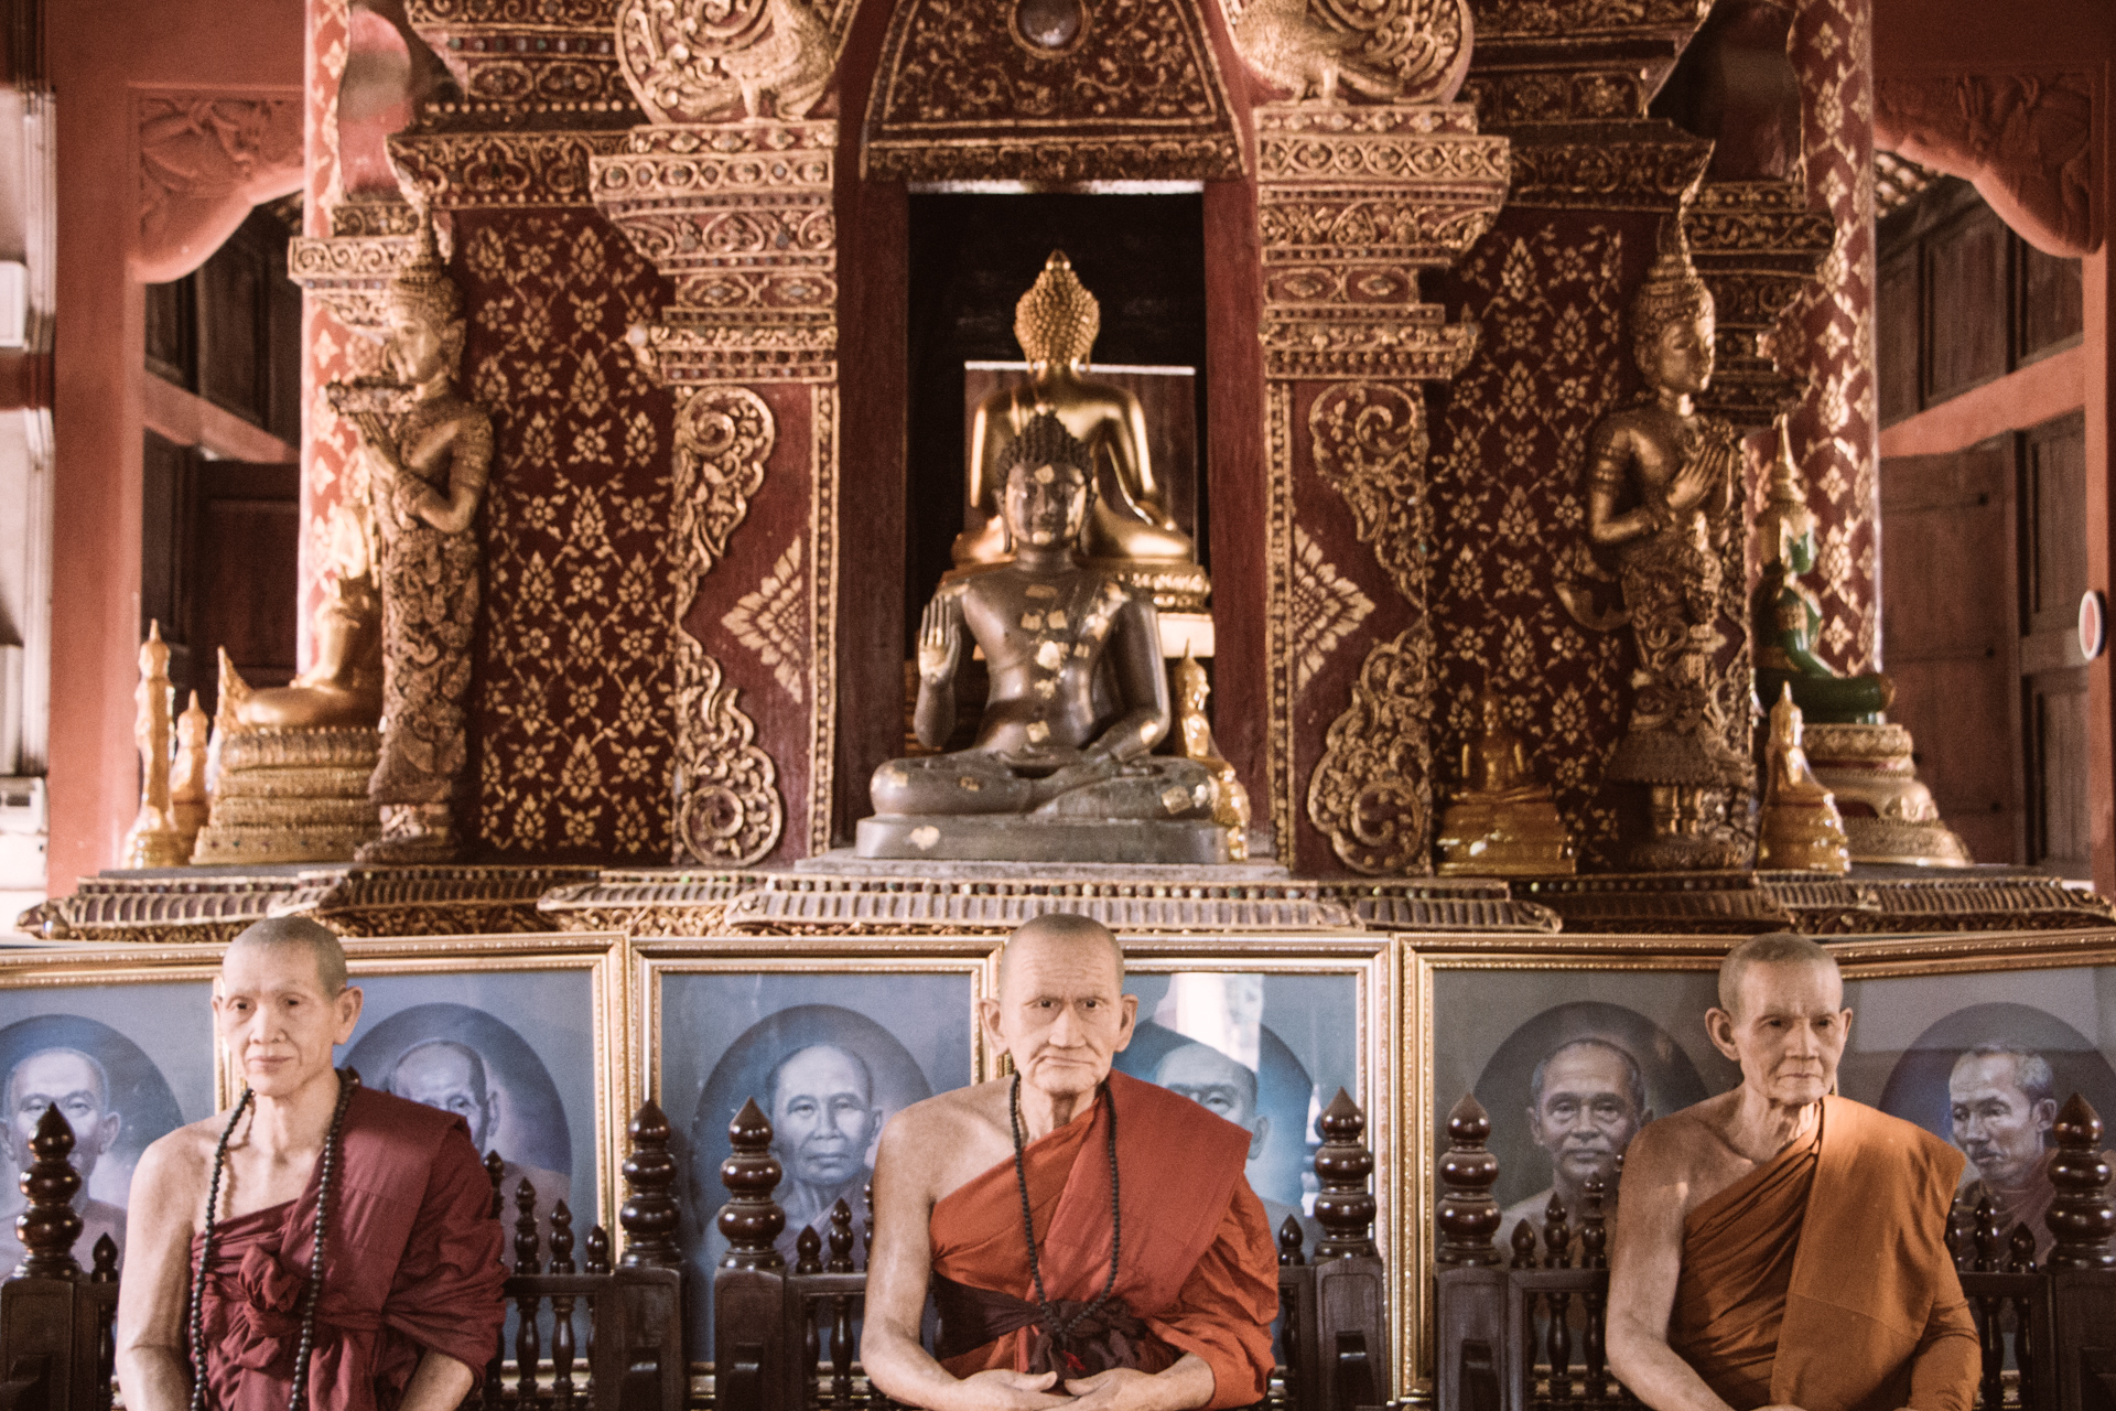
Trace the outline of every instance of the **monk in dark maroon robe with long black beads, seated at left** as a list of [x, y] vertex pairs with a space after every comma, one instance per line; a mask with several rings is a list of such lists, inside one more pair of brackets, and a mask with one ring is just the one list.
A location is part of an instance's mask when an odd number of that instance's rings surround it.
[[182, 1411], [199, 1381], [220, 1411], [281, 1411], [296, 1383], [317, 1411], [455, 1411], [495, 1354], [506, 1271], [478, 1149], [461, 1117], [332, 1066], [360, 1003], [313, 920], [260, 920], [229, 943], [214, 1030], [241, 1098], [133, 1170], [116, 1320], [129, 1411]]

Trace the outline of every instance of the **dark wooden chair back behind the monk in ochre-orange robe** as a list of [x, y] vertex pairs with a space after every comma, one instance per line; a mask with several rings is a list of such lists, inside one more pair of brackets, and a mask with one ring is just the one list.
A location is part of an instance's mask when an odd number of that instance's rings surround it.
[[[1521, 1221], [1500, 1252], [1485, 1149], [1492, 1121], [1464, 1096], [1447, 1115], [1439, 1163], [1435, 1400], [1439, 1411], [1617, 1411], [1638, 1407], [1604, 1358], [1608, 1231], [1589, 1180], [1581, 1227], [1555, 1197], [1545, 1227]], [[2116, 1199], [2101, 1119], [2074, 1094], [2057, 1115], [2048, 1229], [2002, 1238], [1983, 1202], [1955, 1229], [1955, 1269], [1983, 1348], [1978, 1411], [2116, 1411]]]

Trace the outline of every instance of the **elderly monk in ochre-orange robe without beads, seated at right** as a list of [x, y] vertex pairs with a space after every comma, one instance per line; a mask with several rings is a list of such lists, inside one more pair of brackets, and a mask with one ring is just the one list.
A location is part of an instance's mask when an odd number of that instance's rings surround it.
[[1720, 965], [1733, 1092], [1644, 1128], [1610, 1248], [1608, 1364], [1655, 1411], [1968, 1411], [1976, 1324], [1947, 1250], [1962, 1153], [1832, 1096], [1837, 960], [1758, 935]]

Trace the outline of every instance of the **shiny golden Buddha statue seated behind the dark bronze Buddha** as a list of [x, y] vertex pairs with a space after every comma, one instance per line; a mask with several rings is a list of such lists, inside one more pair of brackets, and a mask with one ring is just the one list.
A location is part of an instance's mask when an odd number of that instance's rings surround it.
[[1138, 398], [1088, 377], [1088, 353], [1102, 330], [1102, 307], [1081, 286], [1071, 260], [1054, 250], [1043, 273], [1014, 305], [1014, 338], [1028, 377], [984, 398], [969, 429], [965, 531], [954, 539], [956, 573], [1007, 563], [1014, 542], [1001, 514], [1001, 455], [1037, 417], [1064, 423], [1090, 453], [1092, 506], [1081, 529], [1088, 565], [1134, 590], [1151, 592], [1162, 609], [1202, 611], [1210, 582], [1198, 567], [1198, 546], [1174, 518], [1153, 478], [1147, 415]]

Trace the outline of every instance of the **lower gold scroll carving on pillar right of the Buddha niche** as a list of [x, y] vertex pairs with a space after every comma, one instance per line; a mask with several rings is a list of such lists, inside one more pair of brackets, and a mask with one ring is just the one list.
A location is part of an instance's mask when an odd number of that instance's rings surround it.
[[1428, 872], [1433, 833], [1433, 635], [1424, 620], [1375, 643], [1352, 704], [1308, 781], [1308, 821], [1352, 872]]

